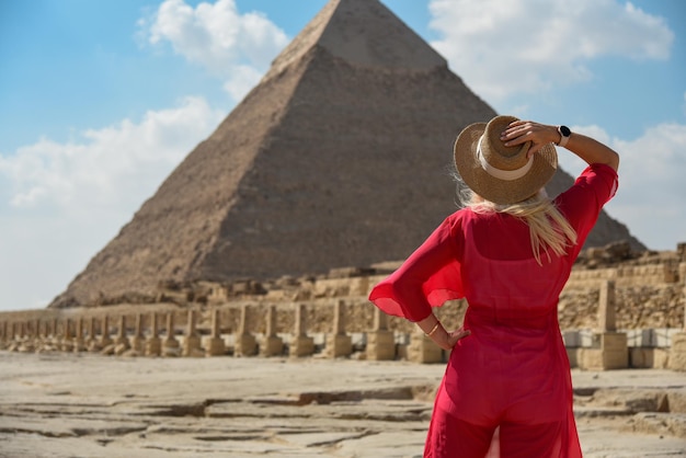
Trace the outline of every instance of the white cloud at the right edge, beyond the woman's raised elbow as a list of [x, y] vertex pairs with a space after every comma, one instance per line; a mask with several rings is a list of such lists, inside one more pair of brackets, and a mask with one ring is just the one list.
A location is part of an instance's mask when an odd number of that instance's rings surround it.
[[[674, 241], [686, 242], [686, 125], [660, 124], [630, 141], [609, 138], [597, 126], [574, 126], [573, 130], [609, 145], [620, 156], [619, 191], [607, 206], [614, 218], [649, 249], [675, 250]], [[560, 164], [570, 173], [583, 167], [564, 152]]]

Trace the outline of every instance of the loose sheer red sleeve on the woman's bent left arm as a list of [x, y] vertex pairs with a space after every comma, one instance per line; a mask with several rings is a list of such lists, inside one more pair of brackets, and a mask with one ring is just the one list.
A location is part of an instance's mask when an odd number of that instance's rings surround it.
[[459, 214], [444, 220], [398, 271], [376, 285], [369, 300], [388, 314], [421, 321], [432, 307], [464, 297]]

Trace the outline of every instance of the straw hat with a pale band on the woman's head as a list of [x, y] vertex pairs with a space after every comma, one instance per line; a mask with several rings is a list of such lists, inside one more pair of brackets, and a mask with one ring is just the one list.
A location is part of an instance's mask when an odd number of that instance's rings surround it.
[[465, 127], [455, 141], [455, 165], [465, 183], [478, 195], [495, 204], [522, 202], [546, 185], [558, 168], [552, 144], [527, 159], [527, 141], [506, 147], [500, 139], [514, 116], [495, 116], [488, 124]]

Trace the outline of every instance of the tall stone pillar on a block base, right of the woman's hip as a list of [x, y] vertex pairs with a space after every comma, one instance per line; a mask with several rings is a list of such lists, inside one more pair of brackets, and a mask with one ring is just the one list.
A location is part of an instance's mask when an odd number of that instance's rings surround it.
[[593, 335], [593, 346], [581, 350], [582, 369], [608, 370], [629, 367], [627, 334], [617, 332], [615, 317], [615, 282], [605, 280], [601, 284], [598, 329]]

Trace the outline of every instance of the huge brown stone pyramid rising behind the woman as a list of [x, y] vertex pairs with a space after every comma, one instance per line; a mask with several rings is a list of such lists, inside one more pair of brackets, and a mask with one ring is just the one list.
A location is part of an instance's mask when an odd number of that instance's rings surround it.
[[404, 259], [456, 209], [457, 133], [494, 115], [379, 1], [331, 0], [50, 307]]

